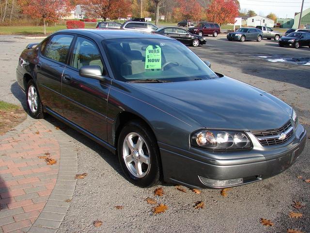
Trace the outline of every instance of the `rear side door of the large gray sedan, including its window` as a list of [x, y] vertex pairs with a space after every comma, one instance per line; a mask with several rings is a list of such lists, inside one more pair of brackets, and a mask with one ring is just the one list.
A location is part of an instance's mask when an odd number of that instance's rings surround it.
[[74, 35], [56, 34], [43, 43], [35, 67], [38, 88], [44, 105], [62, 114], [62, 74]]

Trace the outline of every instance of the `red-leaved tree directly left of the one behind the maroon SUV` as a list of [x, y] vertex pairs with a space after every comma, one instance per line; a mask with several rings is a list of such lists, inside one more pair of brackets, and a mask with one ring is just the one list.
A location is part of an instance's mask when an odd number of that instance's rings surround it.
[[199, 21], [202, 18], [203, 8], [197, 0], [176, 0], [179, 7], [173, 8], [173, 15], [179, 20], [195, 20]]

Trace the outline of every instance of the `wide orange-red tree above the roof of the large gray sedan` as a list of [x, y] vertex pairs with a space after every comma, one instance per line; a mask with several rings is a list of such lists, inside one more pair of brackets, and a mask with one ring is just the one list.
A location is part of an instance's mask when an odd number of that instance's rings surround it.
[[85, 0], [82, 6], [88, 17], [118, 18], [126, 16], [131, 11], [130, 0]]

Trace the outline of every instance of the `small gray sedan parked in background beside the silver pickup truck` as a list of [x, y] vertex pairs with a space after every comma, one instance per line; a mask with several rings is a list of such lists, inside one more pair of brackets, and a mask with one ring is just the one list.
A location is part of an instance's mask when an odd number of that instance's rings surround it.
[[239, 28], [236, 32], [228, 33], [227, 39], [245, 42], [246, 40], [256, 40], [260, 42], [263, 38], [263, 31], [256, 28]]

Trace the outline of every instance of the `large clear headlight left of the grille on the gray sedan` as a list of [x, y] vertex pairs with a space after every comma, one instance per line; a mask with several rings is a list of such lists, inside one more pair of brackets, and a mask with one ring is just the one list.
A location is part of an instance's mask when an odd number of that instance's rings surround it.
[[252, 146], [246, 133], [226, 130], [197, 131], [191, 136], [191, 145], [208, 150], [237, 150]]

